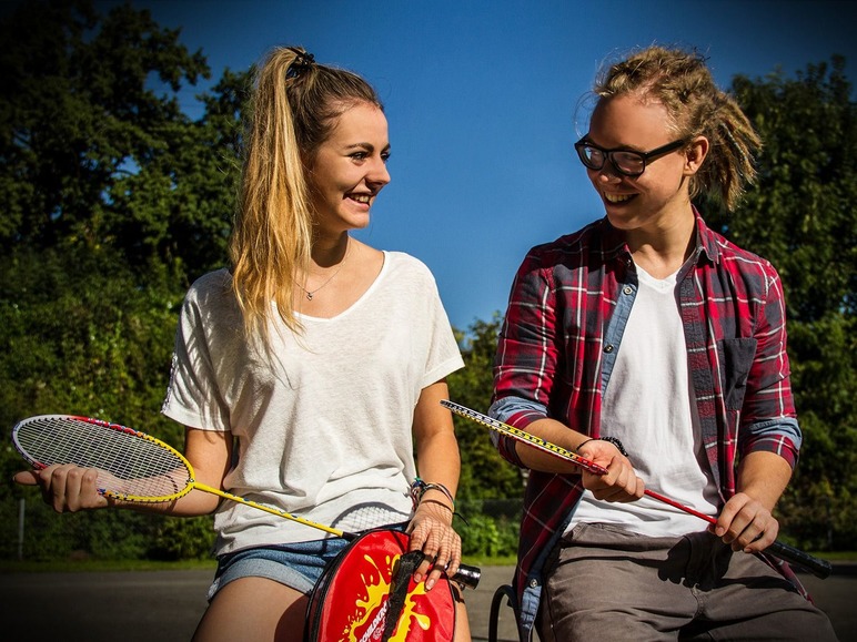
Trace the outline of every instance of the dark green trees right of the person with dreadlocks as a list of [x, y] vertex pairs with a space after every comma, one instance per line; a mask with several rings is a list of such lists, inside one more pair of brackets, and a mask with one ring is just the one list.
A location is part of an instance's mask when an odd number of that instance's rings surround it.
[[715, 228], [769, 259], [786, 294], [793, 388], [804, 447], [779, 505], [784, 532], [807, 548], [857, 541], [857, 111], [845, 59], [795, 79], [736, 77], [733, 91], [762, 139], [759, 181]]

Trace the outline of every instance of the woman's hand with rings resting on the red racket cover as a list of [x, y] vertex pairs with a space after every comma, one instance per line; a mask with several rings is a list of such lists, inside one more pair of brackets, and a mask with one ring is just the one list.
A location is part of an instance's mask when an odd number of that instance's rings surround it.
[[[448, 577], [458, 571], [461, 564], [461, 537], [452, 528], [452, 508], [434, 496], [423, 498], [416, 507], [411, 523], [411, 550], [422, 550], [425, 559], [416, 568], [414, 580], [425, 579], [425, 590], [430, 591], [445, 572]], [[430, 570], [431, 569], [431, 570]]]

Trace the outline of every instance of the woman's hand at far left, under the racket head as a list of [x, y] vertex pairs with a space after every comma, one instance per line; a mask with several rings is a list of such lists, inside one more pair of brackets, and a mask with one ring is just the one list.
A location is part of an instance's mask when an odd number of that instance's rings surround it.
[[41, 470], [22, 470], [12, 479], [22, 486], [38, 486], [42, 499], [57, 512], [105, 508], [109, 501], [98, 491], [97, 468], [54, 463]]

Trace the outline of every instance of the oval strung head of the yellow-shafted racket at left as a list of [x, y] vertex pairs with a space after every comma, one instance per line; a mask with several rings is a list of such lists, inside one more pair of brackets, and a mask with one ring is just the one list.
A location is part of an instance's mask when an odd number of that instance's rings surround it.
[[12, 428], [12, 444], [36, 469], [72, 463], [98, 470], [104, 497], [167, 502], [193, 488], [193, 468], [169, 444], [128, 428], [77, 415], [38, 415]]

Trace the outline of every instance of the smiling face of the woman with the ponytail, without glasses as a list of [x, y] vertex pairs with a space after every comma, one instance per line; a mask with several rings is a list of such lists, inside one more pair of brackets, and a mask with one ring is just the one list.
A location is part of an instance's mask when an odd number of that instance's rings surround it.
[[319, 233], [369, 225], [375, 196], [390, 182], [389, 156], [386, 118], [379, 108], [360, 103], [343, 112], [309, 167]]

